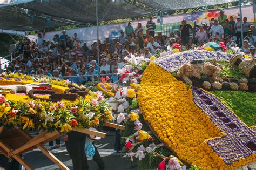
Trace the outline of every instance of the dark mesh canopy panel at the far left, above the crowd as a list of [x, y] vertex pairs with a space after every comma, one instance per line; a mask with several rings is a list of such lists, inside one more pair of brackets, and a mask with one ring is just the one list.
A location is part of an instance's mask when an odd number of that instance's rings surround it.
[[[12, 9], [12, 8], [8, 8]], [[48, 23], [45, 18], [30, 17], [29, 15], [8, 11], [0, 8], [0, 29], [16, 31], [32, 31], [44, 28], [56, 28], [68, 25], [63, 22], [52, 21]]]

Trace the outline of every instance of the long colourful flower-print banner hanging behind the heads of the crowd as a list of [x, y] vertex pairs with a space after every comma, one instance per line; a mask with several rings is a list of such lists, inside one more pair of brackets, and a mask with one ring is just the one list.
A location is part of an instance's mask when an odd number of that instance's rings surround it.
[[[228, 19], [230, 16], [234, 17], [234, 21], [236, 21], [236, 17], [239, 14], [239, 7], [235, 8], [228, 8], [224, 9], [225, 14], [227, 15]], [[209, 25], [211, 18], [217, 18], [219, 16], [219, 10], [212, 10], [212, 11], [204, 11], [204, 12], [193, 12], [193, 13], [185, 13], [181, 15], [172, 15], [163, 17], [163, 25], [162, 25], [162, 32], [163, 35], [168, 35], [170, 32], [176, 32], [179, 30], [180, 22], [183, 19], [186, 19], [187, 23], [191, 24], [192, 27], [194, 25], [201, 25], [207, 24]], [[242, 17], [247, 17], [248, 22], [254, 22], [254, 15], [253, 15], [253, 5], [243, 6], [242, 7]], [[142, 23], [144, 27], [144, 32], [146, 31], [146, 23], [148, 19], [143, 19], [139, 21], [133, 21], [132, 26], [135, 29], [137, 27], [138, 22]], [[160, 24], [157, 23], [157, 18], [154, 18], [154, 22], [156, 22], [156, 32], [161, 32]], [[104, 42], [105, 38], [109, 37], [110, 41], [114, 38], [118, 38], [120, 36], [120, 31], [125, 29], [127, 23], [118, 23], [118, 24], [109, 24], [109, 25], [100, 25], [99, 26], [99, 39]], [[77, 36], [80, 40], [80, 44], [87, 43], [87, 46], [93, 42], [96, 42], [97, 39], [97, 29], [96, 26], [89, 26], [85, 28], [78, 28], [78, 29], [71, 29], [66, 30], [66, 34], [70, 35], [71, 37], [74, 33], [77, 33]], [[47, 32], [45, 34], [44, 39], [52, 40], [55, 34], [61, 35], [61, 31], [53, 31]], [[30, 36], [30, 39], [36, 39], [36, 35]]]

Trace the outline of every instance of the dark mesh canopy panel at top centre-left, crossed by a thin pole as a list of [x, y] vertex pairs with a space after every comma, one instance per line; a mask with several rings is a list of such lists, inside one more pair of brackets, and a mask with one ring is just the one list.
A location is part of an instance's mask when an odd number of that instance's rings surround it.
[[[113, 6], [112, 6], [113, 4]], [[77, 22], [96, 22], [96, 1], [93, 0], [47, 0], [17, 5], [21, 8], [42, 12], [46, 15]], [[112, 6], [112, 8], [111, 8]], [[111, 8], [111, 9], [110, 9]], [[109, 10], [110, 9], [110, 10]], [[105, 13], [109, 10], [107, 15]], [[98, 19], [103, 21], [137, 17], [149, 13], [123, 0], [98, 1]]]

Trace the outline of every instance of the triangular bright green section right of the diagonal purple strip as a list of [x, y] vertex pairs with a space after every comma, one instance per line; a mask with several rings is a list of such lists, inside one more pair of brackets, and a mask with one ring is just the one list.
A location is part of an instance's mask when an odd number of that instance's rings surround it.
[[256, 125], [256, 93], [244, 91], [211, 91], [231, 108], [248, 126]]

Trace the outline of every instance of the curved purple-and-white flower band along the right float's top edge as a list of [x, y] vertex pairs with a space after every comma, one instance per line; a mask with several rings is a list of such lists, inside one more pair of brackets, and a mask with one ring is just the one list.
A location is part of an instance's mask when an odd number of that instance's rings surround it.
[[184, 63], [189, 63], [192, 60], [218, 60], [228, 61], [232, 55], [219, 51], [206, 51], [206, 50], [189, 50], [171, 55], [163, 56], [154, 60], [154, 63], [163, 69], [173, 72], [177, 71]]

